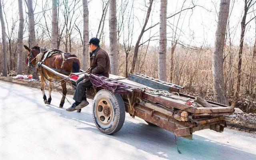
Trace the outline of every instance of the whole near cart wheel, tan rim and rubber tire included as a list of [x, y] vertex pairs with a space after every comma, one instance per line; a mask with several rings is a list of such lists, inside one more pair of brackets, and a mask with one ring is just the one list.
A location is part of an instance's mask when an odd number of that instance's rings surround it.
[[93, 120], [100, 132], [114, 134], [118, 132], [125, 120], [124, 101], [120, 94], [100, 90], [92, 103]]

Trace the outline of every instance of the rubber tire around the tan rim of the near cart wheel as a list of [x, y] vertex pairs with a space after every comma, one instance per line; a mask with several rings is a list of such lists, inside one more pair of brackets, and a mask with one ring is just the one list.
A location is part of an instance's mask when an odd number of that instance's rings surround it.
[[[112, 106], [113, 117], [110, 124], [108, 125], [103, 125], [100, 123], [97, 117], [96, 108], [101, 98], [108, 99]], [[94, 123], [100, 132], [104, 134], [114, 134], [118, 132], [122, 128], [125, 120], [124, 101], [120, 94], [113, 94], [112, 92], [105, 89], [97, 92], [92, 102], [92, 115]]]

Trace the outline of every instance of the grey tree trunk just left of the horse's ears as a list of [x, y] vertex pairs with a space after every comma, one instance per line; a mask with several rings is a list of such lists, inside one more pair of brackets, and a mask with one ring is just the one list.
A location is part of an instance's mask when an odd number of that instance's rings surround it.
[[18, 30], [18, 67], [17, 74], [22, 74], [22, 58], [23, 58], [23, 28], [24, 28], [24, 17], [23, 17], [23, 8], [22, 0], [18, 0], [19, 8], [19, 30]]

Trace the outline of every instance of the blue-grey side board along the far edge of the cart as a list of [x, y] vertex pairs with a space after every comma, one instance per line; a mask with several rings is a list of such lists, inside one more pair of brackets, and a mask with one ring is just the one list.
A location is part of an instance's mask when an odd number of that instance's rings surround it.
[[161, 90], [166, 90], [168, 92], [179, 92], [178, 88], [172, 87], [170, 85], [167, 84], [162, 84], [160, 81], [156, 82], [156, 80], [154, 80], [154, 78], [150, 79], [150, 78], [145, 78], [139, 75], [135, 75], [135, 74], [129, 74], [129, 80], [143, 84], [145, 86], [154, 88], [154, 89], [161, 89]]

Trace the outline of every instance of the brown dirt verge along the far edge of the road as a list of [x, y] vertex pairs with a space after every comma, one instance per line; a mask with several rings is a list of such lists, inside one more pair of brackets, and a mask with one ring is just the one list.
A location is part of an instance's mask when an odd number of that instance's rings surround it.
[[[33, 88], [40, 88], [40, 81], [39, 80], [29, 80], [29, 79], [14, 79], [12, 77], [4, 77], [0, 76], [0, 80], [6, 82], [12, 82], [15, 84], [20, 84], [24, 86], [29, 86]], [[58, 86], [54, 91], [58, 90], [62, 92], [62, 88], [60, 83], [53, 83], [54, 86]], [[48, 86], [45, 86], [45, 90], [48, 90]], [[70, 84], [67, 83], [67, 91], [68, 94], [74, 94], [74, 89]], [[247, 113], [234, 113], [233, 115], [226, 116], [226, 122], [228, 128], [241, 130], [249, 133], [256, 133], [256, 114], [247, 114]]]

